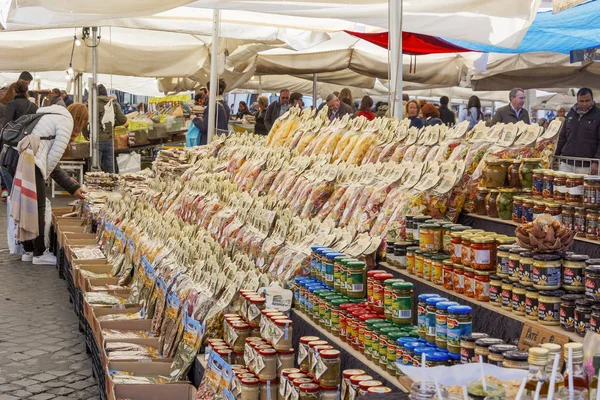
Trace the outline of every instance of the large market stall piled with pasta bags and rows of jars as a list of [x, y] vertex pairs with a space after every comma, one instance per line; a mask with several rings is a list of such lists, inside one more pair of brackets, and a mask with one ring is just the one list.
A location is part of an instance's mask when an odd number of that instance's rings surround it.
[[[593, 222], [597, 196], [543, 169], [560, 121], [418, 131], [326, 112], [163, 150], [140, 174], [88, 174], [83, 220], [55, 213], [59, 270], [109, 398], [188, 378], [198, 399], [404, 398], [426, 385], [413, 366], [473, 395], [479, 356], [514, 396], [557, 352], [583, 362], [600, 332], [600, 242], [568, 216], [587, 207]], [[94, 226], [97, 239], [78, 238]]]

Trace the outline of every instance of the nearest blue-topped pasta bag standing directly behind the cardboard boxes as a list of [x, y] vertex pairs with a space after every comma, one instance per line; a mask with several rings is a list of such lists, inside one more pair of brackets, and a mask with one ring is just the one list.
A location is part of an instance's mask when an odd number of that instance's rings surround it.
[[183, 323], [180, 325], [179, 336], [182, 339], [177, 346], [177, 351], [171, 364], [171, 382], [185, 380], [192, 363], [196, 359], [198, 350], [200, 350], [200, 341], [203, 334], [200, 323], [185, 313]]

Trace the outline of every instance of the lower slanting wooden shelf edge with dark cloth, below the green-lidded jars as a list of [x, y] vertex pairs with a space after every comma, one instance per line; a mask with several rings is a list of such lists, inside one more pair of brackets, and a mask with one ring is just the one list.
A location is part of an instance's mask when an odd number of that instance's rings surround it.
[[[397, 376], [390, 374], [386, 369], [379, 364], [368, 359], [359, 350], [352, 347], [339, 337], [335, 336], [325, 328], [319, 326], [306, 313], [296, 308], [291, 310], [291, 319], [294, 322], [294, 341], [299, 340], [301, 336], [317, 336], [329, 342], [331, 346], [340, 350], [342, 353], [342, 369], [362, 369], [374, 379], [382, 381], [384, 386], [395, 388], [396, 391], [408, 393], [412, 381], [404, 377], [405, 384], [403, 385]], [[294, 343], [294, 346], [299, 345]], [[406, 386], [405, 386], [406, 385]], [[400, 395], [400, 393], [399, 393]]]

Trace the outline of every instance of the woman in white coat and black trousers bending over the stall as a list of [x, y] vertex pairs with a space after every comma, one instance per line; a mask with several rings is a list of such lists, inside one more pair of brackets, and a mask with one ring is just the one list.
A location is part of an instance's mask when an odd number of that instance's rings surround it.
[[[83, 104], [73, 107], [71, 112], [85, 108]], [[79, 183], [73, 180], [66, 172], [58, 167], [67, 145], [71, 141], [74, 128], [81, 131], [81, 126], [73, 126], [73, 116], [66, 108], [51, 105], [37, 110], [37, 114], [44, 114], [35, 125], [31, 135], [39, 138], [39, 147], [35, 153], [35, 187], [37, 192], [38, 232], [33, 239], [23, 242], [25, 253], [23, 261], [32, 261], [33, 264], [55, 265], [56, 257], [46, 252], [44, 244], [44, 217], [46, 212], [46, 179], [51, 177], [61, 187], [77, 198], [84, 198]], [[87, 119], [87, 118], [86, 118]], [[86, 121], [87, 123], [87, 121]], [[18, 171], [17, 171], [18, 172]]]

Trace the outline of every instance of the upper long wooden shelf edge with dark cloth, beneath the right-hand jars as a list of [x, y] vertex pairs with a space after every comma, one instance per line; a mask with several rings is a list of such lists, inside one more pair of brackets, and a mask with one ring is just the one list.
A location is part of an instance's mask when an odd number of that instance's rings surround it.
[[541, 324], [526, 316], [517, 315], [506, 307], [493, 306], [490, 302], [476, 301], [472, 297], [445, 289], [441, 285], [435, 285], [431, 281], [408, 273], [406, 269], [397, 268], [387, 262], [380, 262], [379, 268], [415, 284], [415, 296], [422, 294], [419, 293], [419, 287], [426, 288], [427, 293], [440, 294], [448, 298], [449, 301], [456, 301], [462, 305], [470, 306], [473, 309], [473, 331], [487, 333], [506, 342], [513, 342], [519, 339], [523, 326], [528, 323], [555, 334], [564, 335], [572, 342], [583, 342], [583, 337], [574, 332], [565, 331], [560, 326]]

